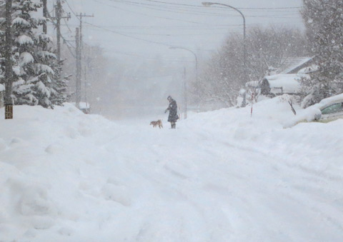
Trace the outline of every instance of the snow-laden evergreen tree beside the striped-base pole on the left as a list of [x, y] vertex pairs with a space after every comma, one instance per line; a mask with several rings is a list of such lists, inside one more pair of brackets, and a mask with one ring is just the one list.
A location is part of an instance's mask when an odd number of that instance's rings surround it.
[[[68, 77], [60, 77], [61, 67], [56, 63], [52, 39], [42, 33], [41, 26], [47, 19], [36, 13], [40, 7], [38, 1], [13, 0], [12, 96], [16, 105], [41, 105], [52, 109], [54, 104], [62, 105], [66, 101]], [[0, 55], [4, 48], [3, 26], [4, 19], [0, 19]]]

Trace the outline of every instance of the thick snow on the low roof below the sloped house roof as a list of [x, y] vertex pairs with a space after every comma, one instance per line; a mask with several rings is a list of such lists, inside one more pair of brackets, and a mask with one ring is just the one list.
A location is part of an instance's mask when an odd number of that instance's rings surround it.
[[297, 74], [278, 74], [266, 76], [264, 79], [267, 79], [272, 93], [295, 94], [301, 88], [300, 76]]

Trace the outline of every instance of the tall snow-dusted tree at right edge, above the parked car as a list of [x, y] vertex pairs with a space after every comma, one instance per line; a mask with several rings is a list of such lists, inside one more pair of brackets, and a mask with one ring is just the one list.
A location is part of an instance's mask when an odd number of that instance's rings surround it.
[[303, 106], [343, 91], [343, 0], [303, 0], [302, 16], [315, 57], [310, 79], [303, 80]]

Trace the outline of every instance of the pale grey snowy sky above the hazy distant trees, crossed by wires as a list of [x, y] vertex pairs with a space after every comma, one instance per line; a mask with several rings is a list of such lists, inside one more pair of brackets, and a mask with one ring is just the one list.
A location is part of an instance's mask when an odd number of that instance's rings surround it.
[[[182, 46], [206, 55], [219, 48], [229, 33], [242, 33], [242, 16], [229, 8], [204, 7], [203, 0], [67, 0], [68, 12], [94, 14], [84, 21], [84, 41], [97, 44], [116, 59], [144, 60], [160, 56], [166, 61], [194, 61]], [[239, 8], [247, 19], [247, 29], [257, 24], [303, 27], [299, 8], [302, 0], [217, 1]], [[178, 5], [184, 4], [184, 5]], [[271, 9], [272, 8], [272, 9]], [[284, 8], [284, 9], [278, 9]], [[78, 20], [71, 12], [70, 31], [74, 36]], [[96, 27], [97, 26], [97, 27]], [[144, 39], [144, 40], [141, 40]], [[153, 42], [158, 42], [153, 43]]]

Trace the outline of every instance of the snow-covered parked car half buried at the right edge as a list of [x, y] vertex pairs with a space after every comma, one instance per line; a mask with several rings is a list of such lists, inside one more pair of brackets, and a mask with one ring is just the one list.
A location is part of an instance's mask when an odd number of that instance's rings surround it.
[[320, 114], [314, 116], [316, 121], [343, 119], [343, 94], [323, 99], [314, 107], [320, 110]]

